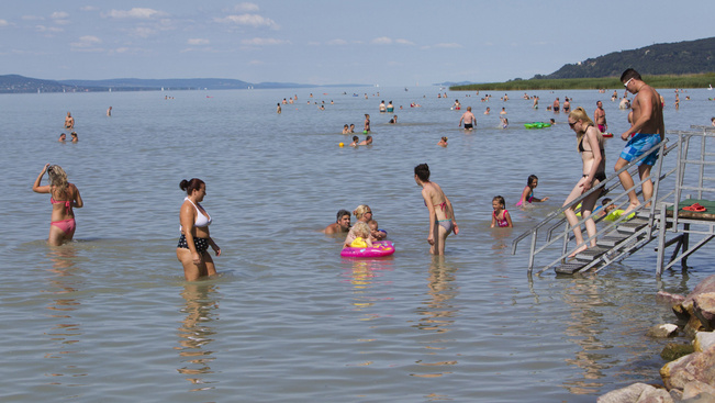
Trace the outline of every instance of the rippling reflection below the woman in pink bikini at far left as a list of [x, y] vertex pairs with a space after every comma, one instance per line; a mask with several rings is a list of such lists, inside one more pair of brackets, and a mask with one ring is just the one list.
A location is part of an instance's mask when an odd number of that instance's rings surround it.
[[[87, 372], [77, 366], [75, 360], [79, 357], [72, 357], [81, 352], [76, 344], [80, 343], [82, 336], [81, 324], [72, 317], [72, 312], [81, 305], [77, 295], [83, 283], [83, 278], [77, 276], [77, 250], [71, 244], [51, 247], [47, 258], [52, 261], [52, 268], [47, 269], [51, 276], [47, 277], [49, 287], [45, 292], [53, 295], [47, 305], [47, 310], [51, 311], [47, 316], [55, 320], [55, 324], [45, 335], [49, 336], [49, 340], [56, 349], [45, 354], [44, 358], [60, 359], [62, 361], [59, 361], [59, 367], [49, 366], [55, 370], [45, 374], [47, 377], [86, 377]], [[77, 385], [76, 382], [77, 380], [72, 379], [71, 385]], [[63, 382], [55, 380], [51, 384], [63, 384]]]

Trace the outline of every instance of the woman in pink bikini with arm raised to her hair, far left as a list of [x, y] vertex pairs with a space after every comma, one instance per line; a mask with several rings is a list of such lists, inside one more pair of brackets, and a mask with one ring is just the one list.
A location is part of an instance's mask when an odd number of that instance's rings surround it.
[[[49, 184], [40, 186], [45, 172], [49, 177]], [[49, 245], [59, 246], [65, 242], [72, 240], [77, 227], [72, 209], [80, 209], [85, 203], [77, 187], [67, 181], [65, 170], [58, 165], [46, 164], [35, 179], [32, 190], [36, 193], [49, 193], [52, 203], [52, 221], [47, 238]]]

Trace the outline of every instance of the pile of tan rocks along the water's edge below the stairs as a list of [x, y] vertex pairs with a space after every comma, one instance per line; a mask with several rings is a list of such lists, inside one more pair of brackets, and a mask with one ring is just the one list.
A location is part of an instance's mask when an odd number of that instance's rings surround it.
[[692, 346], [684, 346], [684, 349], [678, 346], [669, 349], [669, 346], [663, 350], [661, 356], [672, 355], [674, 360], [660, 369], [662, 385], [634, 383], [611, 391], [596, 402], [715, 402], [715, 275], [701, 281], [686, 296], [660, 291], [657, 299], [672, 305], [680, 325], [657, 325], [648, 331], [648, 335], [674, 337], [682, 333], [693, 339]]

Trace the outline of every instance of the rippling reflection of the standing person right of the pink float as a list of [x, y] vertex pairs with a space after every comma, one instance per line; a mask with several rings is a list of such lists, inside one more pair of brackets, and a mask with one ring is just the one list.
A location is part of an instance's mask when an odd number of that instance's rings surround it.
[[[424, 343], [424, 348], [429, 350], [428, 355], [431, 357], [437, 357], [444, 352], [445, 347], [443, 344], [447, 343], [451, 345], [454, 343], [454, 339], [446, 339], [444, 337], [450, 331], [451, 325], [455, 323], [455, 317], [458, 314], [458, 309], [451, 304], [451, 300], [459, 292], [459, 287], [455, 282], [456, 272], [457, 268], [447, 265], [444, 256], [434, 256], [432, 258], [427, 277], [427, 299], [423, 303], [423, 306], [417, 309], [420, 318], [417, 325], [415, 325], [418, 329], [435, 336]], [[449, 367], [457, 365], [457, 361], [431, 359], [429, 361], [418, 360], [416, 363], [428, 367], [429, 372], [411, 373], [411, 376], [437, 378], [451, 373]]]

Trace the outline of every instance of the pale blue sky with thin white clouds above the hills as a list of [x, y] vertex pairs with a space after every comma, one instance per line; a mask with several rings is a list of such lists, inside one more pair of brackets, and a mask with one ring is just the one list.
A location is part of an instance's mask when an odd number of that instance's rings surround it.
[[713, 0], [0, 1], [0, 75], [51, 80], [493, 82], [715, 33]]

